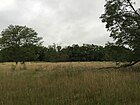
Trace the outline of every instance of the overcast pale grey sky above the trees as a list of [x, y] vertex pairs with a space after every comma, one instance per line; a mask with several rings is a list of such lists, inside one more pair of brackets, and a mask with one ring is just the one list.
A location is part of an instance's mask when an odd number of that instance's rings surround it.
[[[135, 0], [137, 7], [140, 0]], [[104, 45], [111, 41], [99, 19], [105, 0], [0, 0], [0, 31], [10, 24], [26, 25], [57, 43]]]

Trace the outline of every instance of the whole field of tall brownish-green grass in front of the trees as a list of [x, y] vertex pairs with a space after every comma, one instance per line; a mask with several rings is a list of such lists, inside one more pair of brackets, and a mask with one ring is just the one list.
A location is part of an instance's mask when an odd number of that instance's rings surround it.
[[[0, 64], [0, 105], [140, 105], [140, 64]], [[104, 69], [100, 69], [104, 68]]]

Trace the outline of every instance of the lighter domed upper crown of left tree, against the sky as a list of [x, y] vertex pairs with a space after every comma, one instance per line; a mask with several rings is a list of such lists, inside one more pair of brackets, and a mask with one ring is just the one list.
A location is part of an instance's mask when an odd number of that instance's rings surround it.
[[32, 28], [10, 25], [1, 32], [0, 48], [41, 45], [42, 37], [37, 37], [37, 35]]

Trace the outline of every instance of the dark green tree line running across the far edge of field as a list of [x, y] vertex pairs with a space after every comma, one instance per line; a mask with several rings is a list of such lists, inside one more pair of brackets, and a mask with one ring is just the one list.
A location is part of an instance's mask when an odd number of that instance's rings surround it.
[[45, 46], [26, 45], [21, 47], [8, 47], [0, 51], [1, 62], [72, 62], [72, 61], [131, 61], [133, 51], [123, 46], [106, 44], [73, 44], [62, 47], [57, 44]]

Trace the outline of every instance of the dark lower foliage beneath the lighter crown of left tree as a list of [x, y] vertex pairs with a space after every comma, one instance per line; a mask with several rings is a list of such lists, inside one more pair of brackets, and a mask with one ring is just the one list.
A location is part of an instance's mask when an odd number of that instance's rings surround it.
[[39, 57], [39, 48], [34, 45], [8, 47], [1, 50], [1, 60], [10, 62], [35, 61]]

